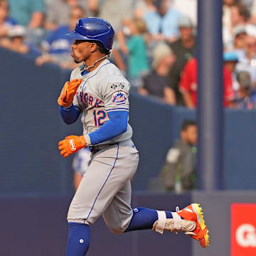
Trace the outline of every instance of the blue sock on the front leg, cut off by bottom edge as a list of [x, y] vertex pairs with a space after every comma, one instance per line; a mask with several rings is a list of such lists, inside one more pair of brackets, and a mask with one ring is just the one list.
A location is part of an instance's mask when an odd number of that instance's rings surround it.
[[68, 223], [66, 256], [85, 256], [90, 245], [90, 227], [82, 223]]

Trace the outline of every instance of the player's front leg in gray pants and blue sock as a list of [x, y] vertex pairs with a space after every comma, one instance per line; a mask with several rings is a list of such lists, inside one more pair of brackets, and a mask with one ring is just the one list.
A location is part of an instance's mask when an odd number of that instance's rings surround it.
[[[68, 211], [70, 232], [67, 256], [85, 255], [90, 244], [89, 226], [104, 213], [112, 198], [129, 181], [137, 169], [137, 151], [132, 148], [132, 143], [130, 151], [129, 149], [124, 150], [127, 145], [122, 144], [102, 149], [92, 157], [90, 166], [80, 182]], [[126, 168], [122, 166], [124, 159], [129, 160]], [[84, 235], [86, 240], [80, 238], [78, 233]], [[81, 239], [83, 240], [82, 245], [87, 246], [87, 249], [84, 248], [84, 252], [80, 250]]]

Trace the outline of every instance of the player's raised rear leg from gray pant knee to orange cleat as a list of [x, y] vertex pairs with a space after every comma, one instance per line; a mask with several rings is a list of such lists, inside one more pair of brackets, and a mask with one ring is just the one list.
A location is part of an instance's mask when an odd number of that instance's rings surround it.
[[199, 240], [202, 247], [209, 245], [208, 230], [203, 220], [203, 213], [197, 203], [193, 203], [176, 212], [149, 208], [131, 208], [130, 182], [114, 196], [110, 206], [103, 213], [108, 228], [113, 233], [121, 234], [133, 230], [152, 229], [163, 234], [164, 230], [173, 233], [183, 231], [191, 238]]

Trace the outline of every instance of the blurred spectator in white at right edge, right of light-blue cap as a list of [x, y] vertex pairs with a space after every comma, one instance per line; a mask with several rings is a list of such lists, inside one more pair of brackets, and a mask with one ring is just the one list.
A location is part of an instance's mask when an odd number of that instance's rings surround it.
[[245, 38], [245, 56], [239, 59], [236, 65], [236, 72], [248, 71], [252, 83], [256, 85], [256, 38], [247, 35]]

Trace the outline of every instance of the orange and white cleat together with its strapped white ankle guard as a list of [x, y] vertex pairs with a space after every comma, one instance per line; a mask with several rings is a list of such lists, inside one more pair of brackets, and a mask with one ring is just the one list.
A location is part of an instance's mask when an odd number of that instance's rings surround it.
[[166, 213], [157, 210], [158, 220], [155, 221], [152, 230], [163, 234], [164, 230], [178, 233], [184, 232], [191, 238], [198, 240], [202, 247], [208, 247], [210, 244], [208, 230], [203, 220], [203, 211], [198, 203], [192, 203], [190, 206], [172, 212], [173, 218], [166, 218]]

